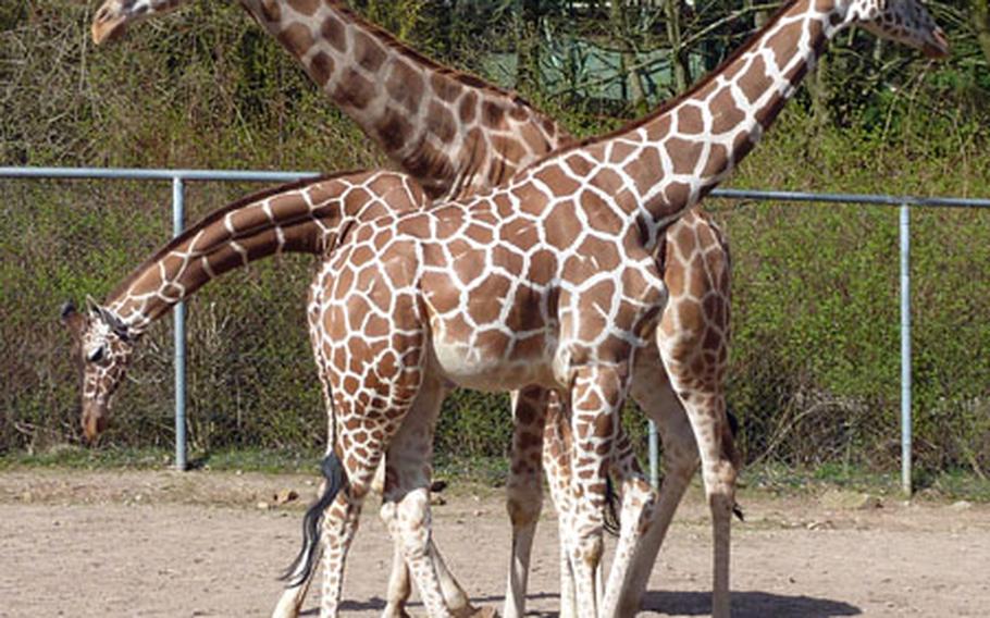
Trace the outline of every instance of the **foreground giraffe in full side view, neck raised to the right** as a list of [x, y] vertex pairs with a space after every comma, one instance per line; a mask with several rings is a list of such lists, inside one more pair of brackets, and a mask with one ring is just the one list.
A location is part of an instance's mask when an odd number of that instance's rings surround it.
[[[605, 466], [635, 353], [666, 301], [653, 257], [661, 233], [752, 150], [827, 40], [853, 24], [948, 53], [941, 32], [907, 0], [794, 0], [721, 70], [644, 121], [559, 150], [491, 193], [352, 230], [320, 273], [332, 281], [318, 286], [341, 452], [329, 457], [347, 480], [324, 515], [331, 564], [346, 555], [396, 418], [435, 415], [445, 381], [541, 384], [567, 391], [571, 401], [571, 492], [580, 499], [567, 551], [579, 615], [597, 615]], [[499, 307], [484, 301], [493, 295], [504, 297]], [[727, 535], [735, 474], [722, 448], [727, 422], [685, 407], [694, 432], [716, 445], [701, 452], [703, 479]], [[431, 581], [421, 489], [397, 500], [394, 521], [428, 609], [449, 615]], [[640, 499], [648, 514], [653, 496], [644, 490]], [[729, 609], [722, 572], [728, 555], [716, 560], [719, 616]], [[615, 590], [605, 591], [605, 615], [618, 609]], [[325, 614], [335, 609], [324, 603]]]

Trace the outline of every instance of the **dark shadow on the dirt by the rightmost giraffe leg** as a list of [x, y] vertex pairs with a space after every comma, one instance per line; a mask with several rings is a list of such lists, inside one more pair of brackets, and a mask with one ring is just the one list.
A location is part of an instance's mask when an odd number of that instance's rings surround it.
[[[643, 610], [649, 614], [708, 616], [711, 614], [709, 592], [647, 592]], [[863, 611], [855, 605], [831, 598], [788, 596], [757, 591], [732, 591], [733, 618], [829, 618], [831, 616], [858, 616]]]

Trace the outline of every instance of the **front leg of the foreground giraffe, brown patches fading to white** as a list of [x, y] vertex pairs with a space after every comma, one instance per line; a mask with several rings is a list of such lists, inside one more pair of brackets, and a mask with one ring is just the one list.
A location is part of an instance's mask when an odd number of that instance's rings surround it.
[[598, 568], [602, 561], [606, 472], [619, 411], [629, 381], [628, 366], [595, 364], [577, 368], [571, 387], [571, 495], [573, 520], [571, 567], [578, 616], [597, 618]]

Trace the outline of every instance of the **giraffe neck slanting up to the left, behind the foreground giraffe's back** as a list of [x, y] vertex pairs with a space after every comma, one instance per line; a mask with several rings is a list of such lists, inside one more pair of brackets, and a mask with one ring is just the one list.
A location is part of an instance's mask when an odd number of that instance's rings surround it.
[[423, 58], [338, 1], [240, 3], [434, 198], [502, 184], [570, 141], [519, 97]]

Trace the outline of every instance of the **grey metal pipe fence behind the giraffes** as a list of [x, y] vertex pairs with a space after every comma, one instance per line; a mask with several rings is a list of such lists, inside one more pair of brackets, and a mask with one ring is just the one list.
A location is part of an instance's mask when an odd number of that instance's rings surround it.
[[[127, 170], [65, 168], [0, 168], [0, 177], [48, 180], [131, 180], [169, 182], [172, 187], [172, 228], [178, 234], [185, 225], [185, 190], [196, 182], [292, 182], [315, 176], [311, 172], [250, 172], [205, 170]], [[814, 194], [799, 191], [762, 191], [719, 189], [713, 198], [776, 202], [818, 202], [898, 207], [900, 209], [900, 355], [901, 355], [901, 482], [905, 493], [912, 491], [912, 322], [911, 322], [911, 212], [918, 208], [990, 208], [990, 199], [921, 198], [856, 194]], [[175, 467], [186, 469], [186, 329], [185, 310], [180, 304], [174, 312], [175, 369]], [[651, 423], [649, 469], [656, 482], [659, 474], [656, 428]]]

